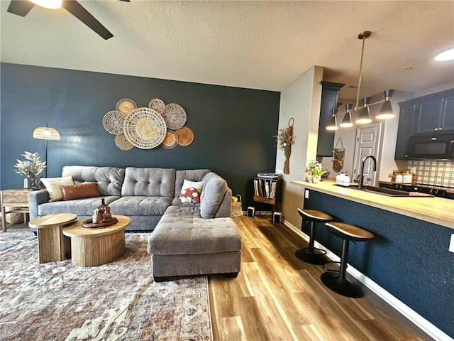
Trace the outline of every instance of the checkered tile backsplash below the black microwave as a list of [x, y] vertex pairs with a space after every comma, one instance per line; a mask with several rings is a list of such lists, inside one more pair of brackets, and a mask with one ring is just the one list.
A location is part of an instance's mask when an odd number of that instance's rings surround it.
[[415, 169], [416, 183], [454, 188], [454, 161], [405, 161], [405, 170], [411, 171], [411, 168]]

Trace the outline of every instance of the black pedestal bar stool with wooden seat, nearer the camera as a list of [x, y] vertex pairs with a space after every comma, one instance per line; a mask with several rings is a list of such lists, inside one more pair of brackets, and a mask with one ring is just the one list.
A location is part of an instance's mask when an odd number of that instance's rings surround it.
[[325, 226], [328, 227], [329, 232], [342, 239], [342, 254], [339, 271], [328, 270], [321, 274], [322, 283], [342, 296], [352, 298], [364, 296], [362, 284], [355, 278], [348, 278], [345, 276], [348, 261], [348, 244], [350, 241], [364, 242], [367, 239], [372, 239], [374, 234], [365, 229], [361, 229], [360, 227], [345, 224], [343, 222], [327, 222]]

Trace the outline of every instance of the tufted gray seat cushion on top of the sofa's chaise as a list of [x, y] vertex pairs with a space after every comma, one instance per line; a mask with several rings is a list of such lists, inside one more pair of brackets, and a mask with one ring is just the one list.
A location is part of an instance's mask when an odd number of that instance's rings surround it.
[[149, 254], [215, 254], [241, 247], [230, 217], [206, 220], [197, 207], [169, 207], [148, 239]]

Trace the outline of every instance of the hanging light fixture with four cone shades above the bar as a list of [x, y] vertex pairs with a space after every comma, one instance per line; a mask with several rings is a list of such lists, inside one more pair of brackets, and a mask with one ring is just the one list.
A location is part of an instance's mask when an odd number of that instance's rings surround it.
[[[362, 106], [360, 106], [360, 91], [361, 91], [361, 81], [362, 81], [362, 60], [364, 59], [364, 45], [365, 45], [365, 40], [369, 38], [372, 35], [371, 31], [362, 31], [358, 35], [358, 39], [362, 40], [362, 48], [361, 48], [361, 59], [360, 59], [360, 75], [358, 77], [358, 90], [356, 92], [356, 105], [355, 108], [353, 108], [353, 104], [345, 104], [345, 114], [343, 117], [343, 120], [339, 126], [343, 128], [349, 128], [353, 126], [352, 123], [352, 112], [357, 112], [358, 113], [358, 119], [356, 119], [355, 123], [356, 124], [368, 124], [372, 122], [372, 119], [370, 118], [370, 109], [369, 107], [371, 105], [375, 104], [381, 104], [382, 108], [380, 109], [380, 112], [377, 114], [375, 117], [376, 119], [392, 119], [394, 117], [394, 112], [392, 111], [392, 105], [391, 105], [391, 97], [392, 94], [394, 94], [394, 90], [389, 89], [384, 91], [384, 99], [381, 101], [373, 102], [370, 103], [371, 97], [365, 97], [362, 99]], [[333, 113], [333, 117], [331, 118], [330, 124], [326, 127], [326, 130], [336, 130], [338, 129], [337, 127], [337, 120], [336, 120], [336, 128], [333, 128], [333, 122], [336, 119], [337, 114]]]

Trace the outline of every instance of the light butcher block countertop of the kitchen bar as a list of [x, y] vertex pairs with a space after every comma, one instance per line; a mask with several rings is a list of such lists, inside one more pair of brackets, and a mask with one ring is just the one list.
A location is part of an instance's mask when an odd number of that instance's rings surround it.
[[319, 183], [307, 183], [306, 181], [291, 181], [290, 183], [454, 229], [454, 200], [443, 197], [390, 197], [336, 186], [334, 185], [336, 182], [330, 179], [324, 179]]

